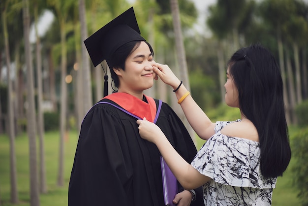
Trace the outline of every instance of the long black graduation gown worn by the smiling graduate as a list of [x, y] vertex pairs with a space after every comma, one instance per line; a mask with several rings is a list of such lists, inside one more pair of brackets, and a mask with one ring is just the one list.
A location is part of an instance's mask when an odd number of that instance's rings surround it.
[[[158, 108], [158, 100], [155, 103]], [[84, 118], [68, 206], [164, 206], [161, 154], [154, 143], [140, 137], [137, 118], [119, 108], [103, 99]], [[197, 152], [195, 145], [168, 104], [161, 104], [156, 125], [190, 163]], [[195, 191], [197, 200], [191, 205], [204, 206], [202, 189]]]

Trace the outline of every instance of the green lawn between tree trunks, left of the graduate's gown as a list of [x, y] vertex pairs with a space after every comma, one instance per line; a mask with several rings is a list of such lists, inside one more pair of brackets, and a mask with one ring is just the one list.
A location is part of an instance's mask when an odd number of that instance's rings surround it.
[[[45, 166], [48, 193], [40, 195], [41, 206], [67, 206], [68, 182], [77, 139], [78, 134], [74, 131], [69, 132], [67, 138], [65, 138], [64, 184], [60, 187], [57, 186], [60, 134], [59, 132], [45, 134]], [[15, 150], [19, 196], [18, 206], [30, 206], [29, 143], [27, 134], [16, 137]], [[37, 164], [38, 162], [37, 159]], [[0, 200], [2, 206], [13, 206], [10, 203], [9, 139], [3, 135], [0, 136]]]

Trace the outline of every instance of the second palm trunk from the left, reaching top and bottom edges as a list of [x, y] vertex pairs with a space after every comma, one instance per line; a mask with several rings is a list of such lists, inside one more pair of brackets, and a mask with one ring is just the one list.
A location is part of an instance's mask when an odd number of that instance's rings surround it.
[[30, 153], [30, 204], [39, 206], [37, 168], [36, 168], [36, 137], [35, 137], [35, 107], [34, 107], [34, 89], [33, 89], [33, 68], [31, 63], [31, 48], [29, 40], [30, 15], [29, 1], [23, 0], [23, 20], [24, 20], [24, 41], [25, 57], [27, 65], [27, 88], [28, 88], [28, 110], [27, 110], [27, 131], [29, 137]]

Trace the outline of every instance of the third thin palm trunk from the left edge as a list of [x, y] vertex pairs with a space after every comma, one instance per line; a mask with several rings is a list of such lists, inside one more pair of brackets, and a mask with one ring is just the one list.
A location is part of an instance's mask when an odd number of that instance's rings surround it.
[[39, 183], [40, 183], [40, 192], [47, 193], [46, 185], [46, 169], [45, 169], [45, 143], [44, 143], [44, 117], [43, 117], [43, 86], [42, 86], [42, 57], [40, 49], [40, 38], [38, 36], [37, 22], [37, 4], [34, 6], [34, 18], [35, 18], [35, 37], [36, 37], [36, 75], [37, 75], [37, 129], [39, 136]]

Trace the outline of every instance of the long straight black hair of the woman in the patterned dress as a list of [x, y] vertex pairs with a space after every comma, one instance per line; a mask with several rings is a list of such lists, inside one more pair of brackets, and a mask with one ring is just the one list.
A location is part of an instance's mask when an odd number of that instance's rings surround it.
[[228, 65], [239, 92], [240, 110], [258, 131], [261, 173], [281, 176], [290, 162], [291, 149], [277, 62], [256, 44], [235, 52]]

